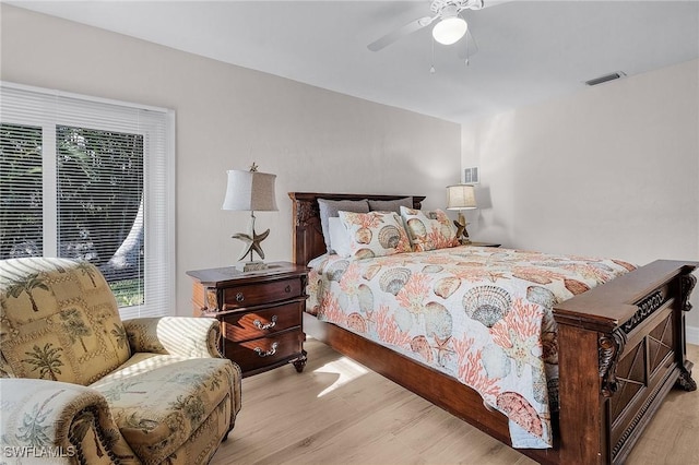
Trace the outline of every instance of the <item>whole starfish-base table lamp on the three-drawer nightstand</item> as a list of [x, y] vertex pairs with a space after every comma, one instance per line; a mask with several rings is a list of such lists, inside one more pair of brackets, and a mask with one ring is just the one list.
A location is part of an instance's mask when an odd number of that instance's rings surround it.
[[250, 254], [250, 261], [245, 264], [242, 271], [257, 271], [266, 269], [262, 261], [253, 261], [252, 253], [260, 255], [264, 260], [264, 252], [260, 242], [270, 235], [270, 230], [262, 234], [254, 231], [254, 212], [276, 212], [276, 196], [274, 194], [274, 180], [276, 175], [259, 172], [258, 166], [253, 163], [249, 171], [237, 169], [228, 170], [228, 186], [226, 198], [223, 201], [222, 210], [237, 212], [250, 212], [250, 223], [248, 234], [234, 234], [234, 239], [241, 240], [245, 245], [238, 261]]

